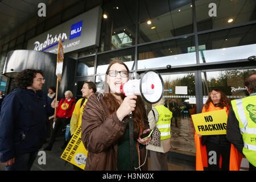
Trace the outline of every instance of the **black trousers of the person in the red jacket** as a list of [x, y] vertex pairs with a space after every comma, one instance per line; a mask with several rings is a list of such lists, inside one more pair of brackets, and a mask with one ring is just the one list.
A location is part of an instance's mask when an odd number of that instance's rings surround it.
[[[55, 121], [54, 129], [52, 131], [51, 138], [49, 139], [48, 147], [52, 148], [55, 138], [57, 136], [57, 133], [59, 133], [59, 130], [64, 129], [68, 125], [68, 123], [70, 123], [70, 119], [71, 118], [57, 117], [57, 119]], [[65, 142], [65, 140], [64, 140], [64, 142]]]

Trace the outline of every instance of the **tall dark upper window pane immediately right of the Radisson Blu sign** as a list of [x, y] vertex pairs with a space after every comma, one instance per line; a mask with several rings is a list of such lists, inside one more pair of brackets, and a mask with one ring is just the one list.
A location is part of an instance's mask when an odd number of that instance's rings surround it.
[[108, 1], [103, 6], [100, 52], [135, 44], [135, 0]]

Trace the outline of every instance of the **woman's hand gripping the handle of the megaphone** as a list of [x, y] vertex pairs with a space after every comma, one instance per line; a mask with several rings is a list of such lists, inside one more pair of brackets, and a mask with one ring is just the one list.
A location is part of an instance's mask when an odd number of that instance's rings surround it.
[[126, 117], [126, 115], [130, 114], [131, 111], [135, 110], [136, 107], [136, 99], [137, 96], [131, 95], [125, 97], [120, 107], [117, 109], [117, 117], [120, 121]]

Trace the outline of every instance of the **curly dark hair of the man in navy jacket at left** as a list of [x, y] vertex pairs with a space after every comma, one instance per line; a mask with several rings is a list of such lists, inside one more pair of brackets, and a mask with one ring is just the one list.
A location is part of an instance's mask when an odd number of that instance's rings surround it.
[[18, 76], [15, 78], [16, 87], [27, 89], [27, 86], [32, 86], [36, 73], [40, 73], [42, 76], [44, 76], [43, 71], [40, 69], [24, 69], [23, 71], [19, 72]]

